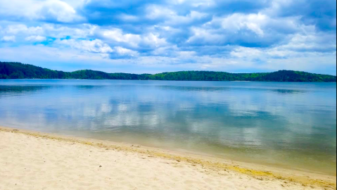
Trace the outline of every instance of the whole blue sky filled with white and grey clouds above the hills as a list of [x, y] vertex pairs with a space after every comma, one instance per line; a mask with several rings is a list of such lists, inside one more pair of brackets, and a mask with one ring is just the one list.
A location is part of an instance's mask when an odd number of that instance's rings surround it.
[[1, 0], [0, 61], [336, 75], [336, 0]]

